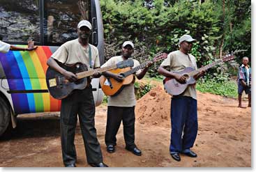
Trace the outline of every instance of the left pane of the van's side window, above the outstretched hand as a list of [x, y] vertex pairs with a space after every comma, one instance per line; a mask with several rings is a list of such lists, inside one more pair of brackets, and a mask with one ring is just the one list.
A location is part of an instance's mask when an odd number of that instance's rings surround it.
[[40, 42], [39, 0], [0, 0], [0, 35], [13, 42]]

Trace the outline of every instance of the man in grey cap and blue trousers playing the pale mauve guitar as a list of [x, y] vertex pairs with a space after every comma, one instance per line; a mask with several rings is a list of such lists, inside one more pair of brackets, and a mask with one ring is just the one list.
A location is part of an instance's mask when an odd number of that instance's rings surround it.
[[[167, 58], [161, 63], [158, 72], [165, 77], [171, 77], [180, 83], [186, 82], [186, 77], [178, 75], [174, 71], [181, 71], [187, 67], [197, 69], [195, 56], [189, 54], [193, 47], [193, 39], [189, 35], [179, 38], [179, 50], [168, 54]], [[170, 71], [166, 70], [170, 67]], [[195, 76], [198, 79], [204, 72]], [[195, 85], [190, 85], [181, 95], [172, 96], [171, 103], [171, 124], [172, 134], [170, 143], [170, 154], [176, 161], [181, 161], [179, 153], [189, 157], [197, 157], [190, 150], [193, 147], [197, 136], [197, 93]], [[183, 135], [182, 135], [183, 133]]]

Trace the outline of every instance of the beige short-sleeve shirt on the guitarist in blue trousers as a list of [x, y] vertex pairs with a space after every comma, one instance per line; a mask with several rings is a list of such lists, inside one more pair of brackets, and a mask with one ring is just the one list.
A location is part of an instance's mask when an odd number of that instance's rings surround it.
[[[161, 63], [162, 66], [170, 66], [171, 72], [180, 72], [187, 67], [192, 67], [197, 70], [197, 63], [195, 56], [192, 54], [183, 54], [183, 52], [177, 50], [168, 54], [165, 61]], [[195, 91], [195, 85], [188, 86], [186, 90], [181, 93], [183, 96], [193, 97], [197, 99], [197, 93]]]

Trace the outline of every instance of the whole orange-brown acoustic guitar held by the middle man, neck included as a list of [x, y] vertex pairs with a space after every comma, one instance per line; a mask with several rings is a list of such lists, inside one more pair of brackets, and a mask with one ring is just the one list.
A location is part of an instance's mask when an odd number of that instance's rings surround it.
[[[152, 62], [160, 61], [167, 58], [167, 54], [163, 53], [153, 58]], [[143, 69], [148, 65], [149, 62], [144, 62], [141, 65], [133, 68], [132, 70], [130, 68], [122, 68], [122, 69], [116, 69], [116, 70], [110, 70], [110, 72], [114, 74], [119, 74], [124, 77], [123, 81], [119, 82], [116, 81], [113, 78], [107, 78], [105, 76], [100, 77], [100, 86], [105, 93], [105, 95], [118, 95], [122, 89], [127, 86], [128, 84], [132, 83], [133, 81], [133, 74], [137, 72], [140, 69]]]

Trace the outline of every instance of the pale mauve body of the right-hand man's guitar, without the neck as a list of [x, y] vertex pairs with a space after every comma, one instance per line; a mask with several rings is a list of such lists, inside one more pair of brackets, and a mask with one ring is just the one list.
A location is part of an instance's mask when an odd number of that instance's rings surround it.
[[170, 95], [180, 95], [181, 93], [183, 93], [188, 87], [188, 85], [195, 84], [195, 79], [193, 77], [188, 76], [188, 73], [192, 72], [193, 70], [193, 68], [188, 67], [182, 70], [181, 72], [174, 72], [176, 74], [184, 75], [185, 77], [187, 77], [185, 84], [179, 83], [179, 81], [176, 81], [176, 79], [174, 78], [166, 77], [163, 81], [165, 91], [167, 91], [167, 93], [169, 93]]

